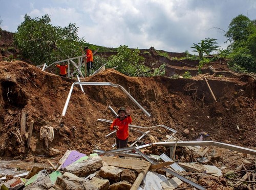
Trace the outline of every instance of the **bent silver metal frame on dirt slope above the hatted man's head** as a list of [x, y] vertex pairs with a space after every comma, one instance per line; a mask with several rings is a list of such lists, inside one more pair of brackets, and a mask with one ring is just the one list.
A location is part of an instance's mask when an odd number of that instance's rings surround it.
[[151, 116], [150, 113], [148, 113], [134, 98], [133, 96], [127, 92], [121, 85], [118, 85], [118, 84], [113, 84], [113, 83], [105, 83], [105, 82], [75, 82], [71, 85], [71, 88], [70, 88], [70, 91], [69, 91], [69, 94], [68, 94], [68, 97], [67, 97], [67, 100], [66, 100], [66, 103], [64, 105], [64, 108], [63, 108], [63, 111], [62, 111], [62, 116], [65, 116], [66, 115], [66, 112], [67, 112], [67, 108], [68, 108], [68, 105], [69, 105], [69, 100], [70, 100], [70, 97], [71, 97], [71, 94], [72, 94], [72, 91], [73, 91], [73, 88], [75, 85], [90, 85], [90, 86], [112, 86], [112, 87], [118, 87], [120, 88], [139, 108], [140, 110], [142, 110], [142, 112], [144, 112], [148, 117]]

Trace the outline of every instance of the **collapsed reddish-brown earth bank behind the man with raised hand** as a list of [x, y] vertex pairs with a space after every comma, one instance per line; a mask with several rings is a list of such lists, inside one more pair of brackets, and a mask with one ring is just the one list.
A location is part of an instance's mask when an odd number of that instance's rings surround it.
[[[25, 62], [0, 62], [0, 153], [31, 160], [34, 155], [54, 156], [76, 149], [91, 153], [93, 149], [110, 149], [115, 143], [108, 123], [97, 119], [115, 118], [108, 109], [131, 106], [133, 124], [140, 126], [165, 125], [178, 131], [182, 140], [195, 140], [200, 132], [209, 139], [245, 147], [256, 147], [255, 80], [252, 78], [210, 77], [208, 83], [215, 102], [202, 78], [170, 79], [167, 77], [127, 77], [113, 69], [88, 77], [87, 82], [111, 82], [123, 86], [151, 113], [145, 114], [119, 88], [109, 86], [75, 86], [65, 117], [61, 116], [74, 79], [43, 72]], [[20, 116], [26, 113], [26, 132], [34, 121], [30, 148], [27, 134], [19, 137]], [[52, 126], [54, 139], [47, 148], [40, 140], [40, 128]], [[184, 133], [187, 128], [189, 133]], [[144, 129], [146, 131], [146, 129]], [[166, 140], [169, 131], [151, 130], [157, 141]], [[129, 143], [141, 134], [131, 131]], [[21, 141], [22, 140], [22, 141]], [[151, 140], [145, 138], [144, 143]], [[36, 158], [37, 159], [37, 158]]]

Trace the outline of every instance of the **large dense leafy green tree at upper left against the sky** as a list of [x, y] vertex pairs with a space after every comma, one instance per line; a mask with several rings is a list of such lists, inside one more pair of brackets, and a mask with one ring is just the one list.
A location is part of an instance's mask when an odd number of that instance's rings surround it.
[[23, 57], [35, 65], [81, 55], [79, 48], [84, 39], [78, 37], [75, 24], [61, 28], [53, 26], [50, 21], [49, 15], [32, 19], [26, 14], [14, 34], [14, 43]]

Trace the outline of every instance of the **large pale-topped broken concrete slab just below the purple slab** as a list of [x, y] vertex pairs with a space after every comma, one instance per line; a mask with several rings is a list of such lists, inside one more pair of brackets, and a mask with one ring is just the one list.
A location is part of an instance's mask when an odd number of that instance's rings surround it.
[[100, 156], [90, 157], [87, 160], [73, 163], [64, 169], [65, 172], [70, 172], [78, 177], [85, 177], [93, 174], [102, 167], [102, 159]]

